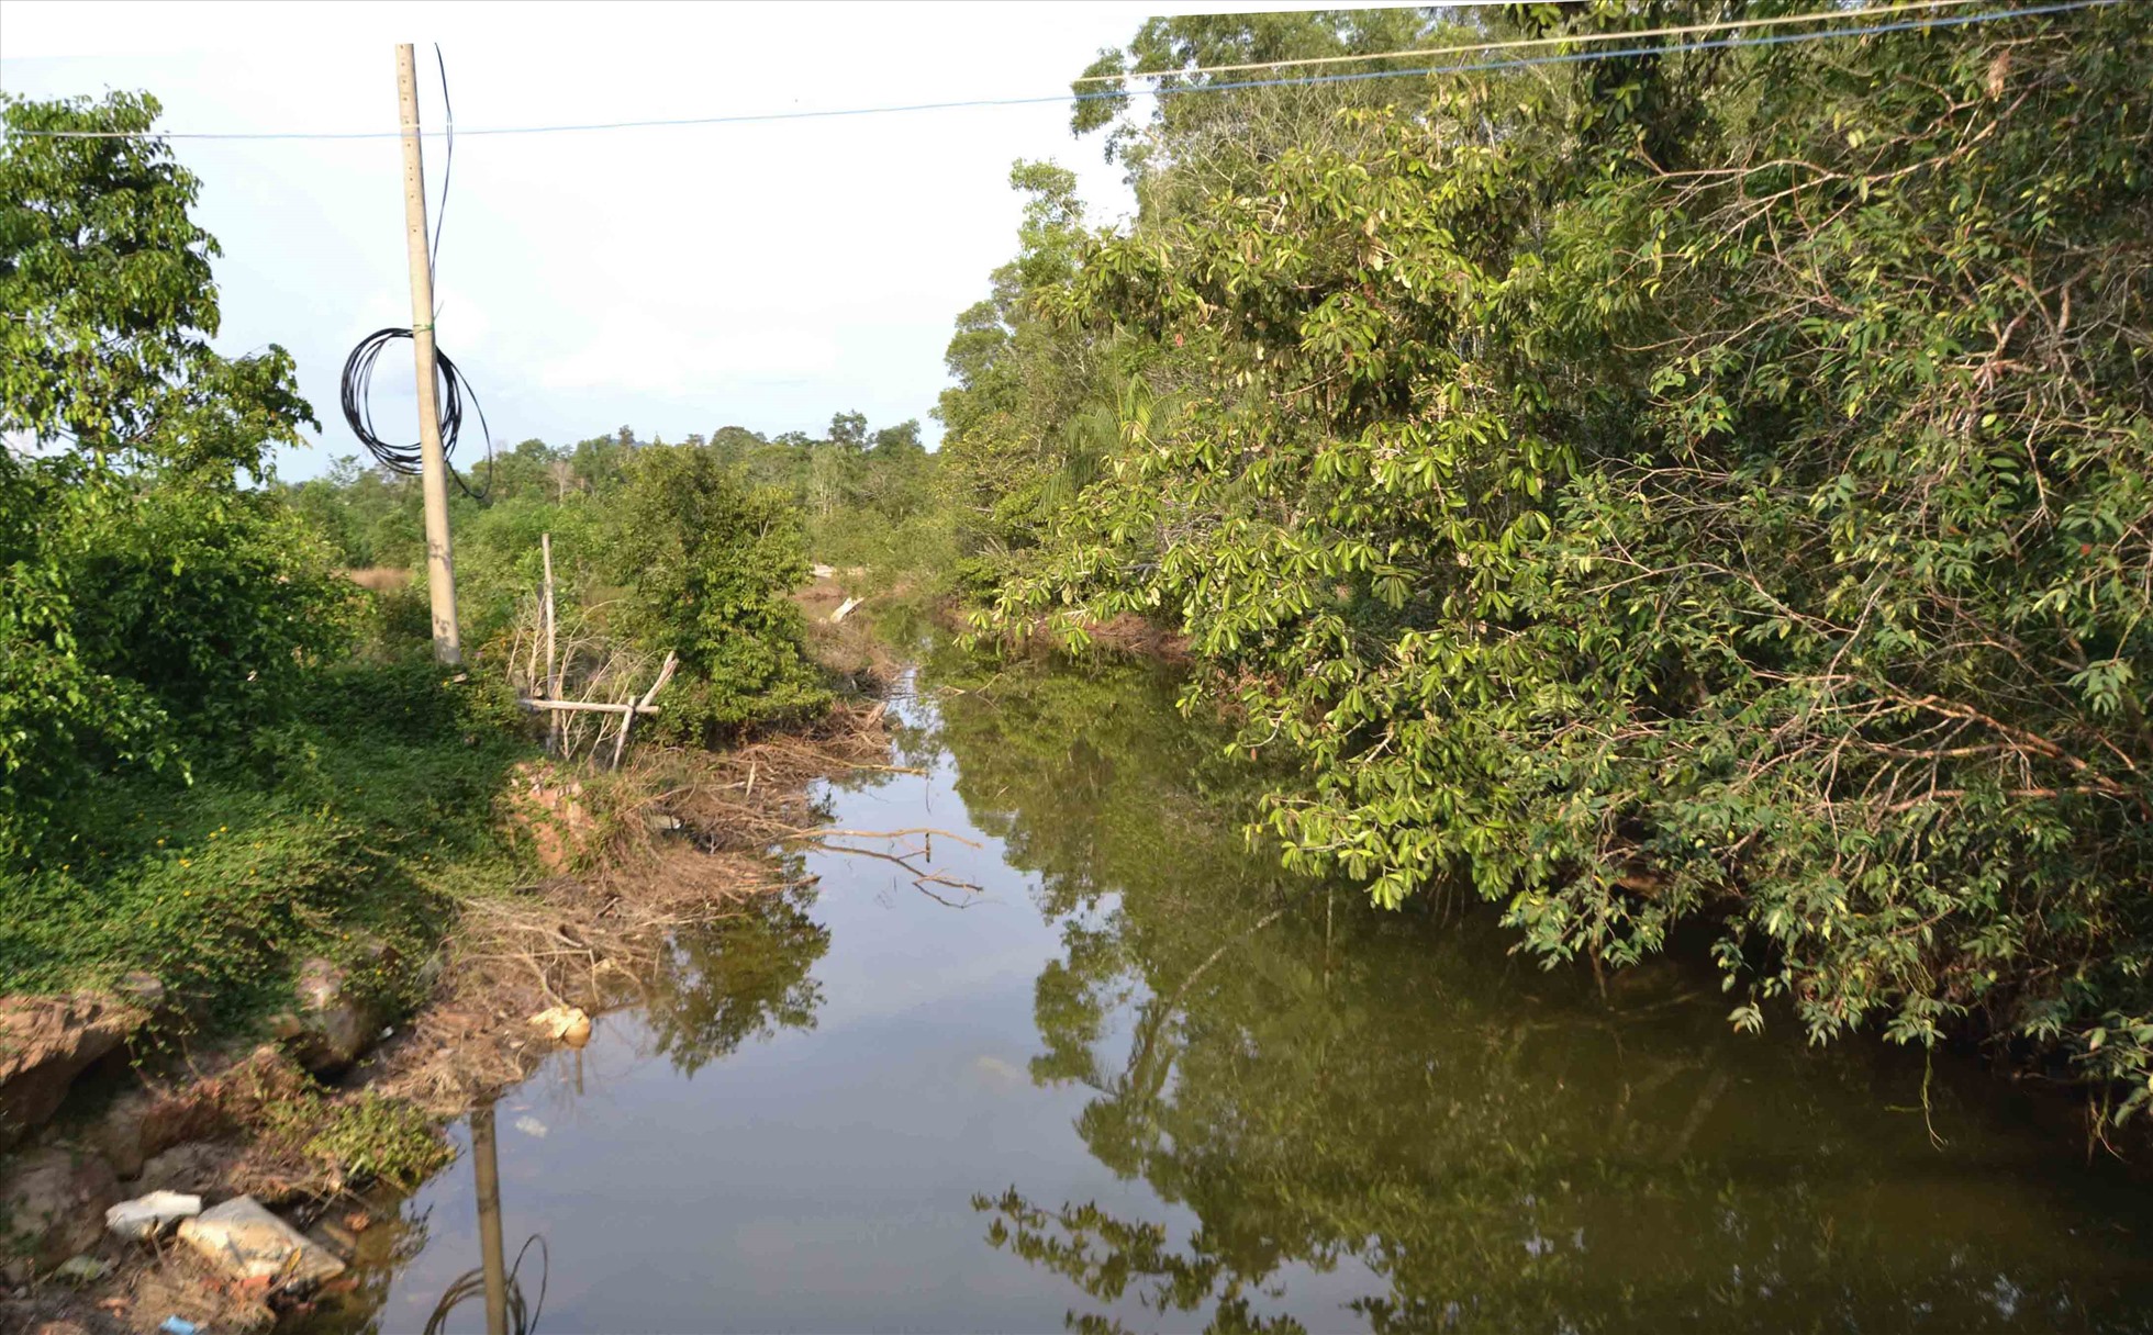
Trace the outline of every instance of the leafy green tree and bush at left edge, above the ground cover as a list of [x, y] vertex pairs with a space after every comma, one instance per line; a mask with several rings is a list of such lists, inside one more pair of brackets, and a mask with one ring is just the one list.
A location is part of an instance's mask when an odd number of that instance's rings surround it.
[[[136, 131], [157, 103], [0, 114]], [[327, 553], [241, 487], [312, 418], [282, 349], [209, 349], [196, 192], [157, 140], [0, 140], [0, 859], [101, 771], [245, 747], [347, 631]]]

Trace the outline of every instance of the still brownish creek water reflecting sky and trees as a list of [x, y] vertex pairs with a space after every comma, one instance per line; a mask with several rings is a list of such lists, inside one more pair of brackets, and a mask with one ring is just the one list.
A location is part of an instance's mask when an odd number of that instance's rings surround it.
[[[812, 855], [510, 1092], [538, 1331], [2153, 1331], [2153, 1199], [2000, 1081], [1285, 879], [1171, 689], [919, 672], [829, 807], [980, 891]], [[364, 1242], [316, 1324], [424, 1329], [474, 1154]]]

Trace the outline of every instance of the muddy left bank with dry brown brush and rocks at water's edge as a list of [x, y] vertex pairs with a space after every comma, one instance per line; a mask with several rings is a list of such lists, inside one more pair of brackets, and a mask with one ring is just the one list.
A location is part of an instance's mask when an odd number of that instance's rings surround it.
[[[30, 1113], [0, 1161], [0, 1331], [168, 1318], [248, 1331], [334, 1298], [340, 1277], [239, 1275], [170, 1227], [118, 1238], [105, 1210], [155, 1191], [209, 1210], [250, 1197], [349, 1260], [375, 1221], [370, 1184], [439, 1167], [441, 1122], [579, 1042], [588, 1016], [639, 1003], [674, 932], [792, 885], [786, 851], [820, 823], [810, 784], [887, 754], [883, 706], [868, 702], [730, 751], [648, 749], [609, 775], [527, 762], [497, 816], [540, 874], [459, 896], [431, 958], [377, 954], [357, 978], [308, 965], [271, 1042], [196, 1042], [155, 997], [24, 1003], [17, 1029], [34, 1042], [0, 1044], [0, 1074], [17, 1077], [0, 1090]], [[418, 1008], [379, 1008], [398, 993]]]

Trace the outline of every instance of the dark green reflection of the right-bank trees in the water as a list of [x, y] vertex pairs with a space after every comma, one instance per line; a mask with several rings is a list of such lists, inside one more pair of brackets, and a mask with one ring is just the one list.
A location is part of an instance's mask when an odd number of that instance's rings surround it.
[[2106, 1189], [1996, 1085], [1942, 1072], [1938, 1150], [1918, 1057], [1740, 1038], [1673, 965], [1602, 995], [1486, 913], [1285, 879], [1240, 833], [1257, 775], [1154, 670], [928, 680], [971, 820], [1061, 924], [1033, 1081], [1089, 1087], [1092, 1154], [1199, 1221], [1010, 1186], [975, 1199], [997, 1249], [1219, 1331], [1298, 1329], [1266, 1309], [1339, 1268], [1376, 1331], [2153, 1329], [2144, 1204], [2116, 1182], [2082, 1227]]

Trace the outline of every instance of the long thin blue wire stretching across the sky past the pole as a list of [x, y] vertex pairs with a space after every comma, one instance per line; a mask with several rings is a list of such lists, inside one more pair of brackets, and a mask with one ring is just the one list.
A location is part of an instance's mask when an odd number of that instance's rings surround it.
[[[1725, 37], [1714, 41], [1686, 41], [1671, 45], [1621, 47], [1615, 52], [1565, 52], [1559, 56], [1526, 56], [1522, 60], [1477, 60], [1468, 65], [1436, 65], [1427, 69], [1371, 69], [1363, 73], [1328, 73], [1298, 80], [1236, 80], [1225, 84], [1184, 84], [1180, 88], [1107, 90], [1107, 93], [1059, 93], [1051, 97], [977, 97], [962, 101], [915, 101], [902, 106], [835, 108], [825, 112], [749, 112], [736, 116], [683, 116], [670, 121], [590, 121], [581, 125], [504, 125], [491, 129], [465, 129], [465, 136], [510, 136], [510, 134], [588, 134], [601, 129], [672, 129], [687, 125], [760, 125], [773, 121], [827, 121], [838, 116], [885, 116], [904, 112], [954, 112], [969, 108], [1016, 108], [1102, 101], [1111, 97], [1186, 97], [1193, 93], [1236, 93], [1244, 88], [1307, 88], [1318, 84], [1359, 84], [1367, 80], [1406, 80], [1443, 73], [1490, 73], [1498, 69], [1531, 69], [1542, 65], [1589, 65], [1595, 60], [1621, 60], [1628, 56], [1673, 56], [1681, 52], [1714, 52], [1737, 47], [1798, 45], [1841, 37], [1877, 37], [1884, 32], [1927, 32], [1931, 28], [1968, 28], [2000, 19], [2071, 13], [2078, 9], [2106, 9], [2123, 0], [2063, 0], [2056, 4], [2028, 4], [2020, 9], [1998, 9], [1976, 15], [1946, 15], [1936, 19], [1905, 19], [1899, 24], [1871, 24], [1867, 28], [1832, 28], [1826, 32], [1774, 32], [1770, 37]], [[1623, 37], [1630, 37], [1628, 32]], [[1576, 41], [1576, 39], [1570, 39]], [[17, 129], [26, 138], [60, 140], [390, 140], [403, 138], [400, 129], [347, 129], [347, 131], [157, 131], [157, 129]], [[422, 131], [433, 134], [433, 131]]]

